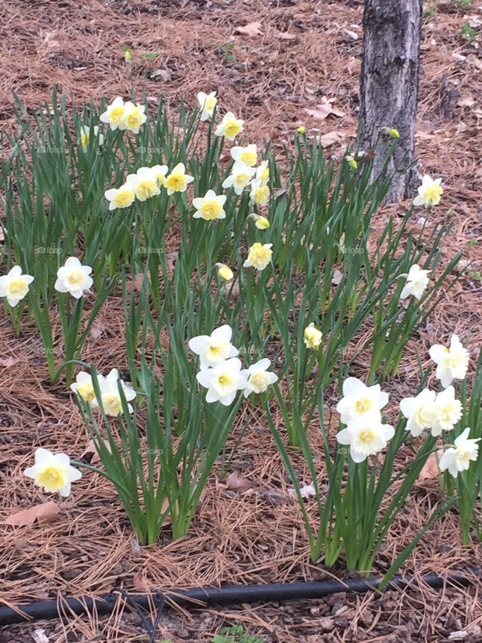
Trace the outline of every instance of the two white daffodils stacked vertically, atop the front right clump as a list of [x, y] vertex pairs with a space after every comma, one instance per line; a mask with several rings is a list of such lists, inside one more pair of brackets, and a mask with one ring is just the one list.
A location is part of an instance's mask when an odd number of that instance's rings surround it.
[[382, 422], [381, 410], [387, 403], [388, 393], [380, 385], [366, 386], [356, 377], [344, 381], [343, 397], [336, 408], [346, 428], [337, 433], [336, 439], [350, 447], [353, 462], [376, 455], [395, 435], [393, 426]]

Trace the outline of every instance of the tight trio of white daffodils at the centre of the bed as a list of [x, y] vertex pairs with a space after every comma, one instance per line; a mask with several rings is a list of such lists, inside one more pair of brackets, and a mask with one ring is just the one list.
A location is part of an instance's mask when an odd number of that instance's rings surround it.
[[196, 379], [208, 389], [206, 402], [229, 406], [239, 390], [248, 397], [251, 393], [265, 392], [270, 384], [278, 381], [278, 376], [267, 370], [271, 366], [267, 358], [242, 370], [242, 362], [237, 358], [239, 350], [231, 343], [232, 336], [233, 330], [226, 324], [210, 335], [199, 335], [189, 340], [190, 349], [199, 355], [201, 370]]

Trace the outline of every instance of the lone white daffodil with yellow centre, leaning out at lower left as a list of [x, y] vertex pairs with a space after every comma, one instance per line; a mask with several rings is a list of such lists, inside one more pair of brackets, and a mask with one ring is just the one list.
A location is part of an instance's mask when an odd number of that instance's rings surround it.
[[43, 487], [47, 493], [69, 495], [71, 483], [82, 478], [82, 473], [70, 464], [70, 458], [65, 453], [52, 453], [47, 449], [35, 451], [35, 464], [27, 467], [24, 474], [33, 478], [37, 487]]

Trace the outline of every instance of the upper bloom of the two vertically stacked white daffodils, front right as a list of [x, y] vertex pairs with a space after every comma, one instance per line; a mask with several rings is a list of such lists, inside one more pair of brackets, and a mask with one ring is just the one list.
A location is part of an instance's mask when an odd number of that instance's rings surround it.
[[366, 415], [380, 419], [380, 410], [388, 403], [388, 393], [379, 384], [366, 386], [357, 377], [347, 377], [343, 382], [343, 397], [336, 406], [340, 419], [345, 424], [350, 420], [362, 420]]

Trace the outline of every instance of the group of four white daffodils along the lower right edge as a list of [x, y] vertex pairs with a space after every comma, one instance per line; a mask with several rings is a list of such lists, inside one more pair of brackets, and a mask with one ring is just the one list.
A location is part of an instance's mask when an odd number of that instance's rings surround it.
[[[437, 365], [436, 377], [444, 387], [440, 393], [424, 388], [416, 397], [406, 397], [400, 402], [400, 410], [407, 418], [407, 431], [418, 437], [429, 429], [438, 436], [442, 431], [451, 431], [462, 417], [462, 405], [455, 398], [452, 386], [454, 379], [464, 379], [469, 366], [469, 352], [463, 347], [457, 335], [452, 335], [450, 347], [435, 344], [429, 354]], [[470, 460], [478, 456], [479, 439], [469, 439], [470, 428], [466, 428], [440, 458], [440, 469], [449, 469], [453, 476], [469, 468]]]

